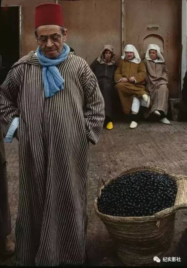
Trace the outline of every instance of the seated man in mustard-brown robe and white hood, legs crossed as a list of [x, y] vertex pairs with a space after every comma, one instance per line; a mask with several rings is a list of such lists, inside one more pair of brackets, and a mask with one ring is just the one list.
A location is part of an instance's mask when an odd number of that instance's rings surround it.
[[140, 104], [150, 105], [150, 96], [145, 88], [146, 68], [133, 45], [127, 45], [114, 74], [115, 88], [118, 91], [123, 112], [131, 114], [129, 128], [138, 125]]

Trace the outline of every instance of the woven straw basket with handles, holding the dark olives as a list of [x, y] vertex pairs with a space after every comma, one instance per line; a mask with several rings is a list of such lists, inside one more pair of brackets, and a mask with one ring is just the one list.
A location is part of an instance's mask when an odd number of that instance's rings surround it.
[[[166, 208], [152, 216], [144, 217], [117, 217], [109, 216], [98, 211], [97, 199], [101, 196], [101, 189], [122, 175], [138, 171], [152, 171], [166, 174], [176, 180], [177, 194], [174, 206]], [[101, 187], [101, 184], [103, 186]], [[104, 182], [102, 178], [98, 183], [98, 197], [95, 199], [95, 212], [105, 224], [117, 254], [125, 265], [159, 265], [153, 260], [154, 256], [161, 259], [169, 257], [176, 210], [187, 208], [187, 177], [174, 175], [161, 168], [139, 166], [124, 170], [122, 173]]]

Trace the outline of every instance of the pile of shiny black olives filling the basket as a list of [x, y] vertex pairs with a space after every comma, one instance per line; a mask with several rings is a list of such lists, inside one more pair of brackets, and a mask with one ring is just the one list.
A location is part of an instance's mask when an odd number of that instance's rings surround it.
[[113, 180], [101, 190], [99, 212], [111, 216], [151, 216], [174, 205], [176, 181], [165, 174], [142, 171]]

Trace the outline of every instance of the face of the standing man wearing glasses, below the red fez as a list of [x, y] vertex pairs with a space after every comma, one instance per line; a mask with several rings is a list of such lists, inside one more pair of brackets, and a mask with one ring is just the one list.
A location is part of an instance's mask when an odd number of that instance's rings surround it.
[[[51, 41], [51, 39], [53, 41]], [[41, 39], [38, 40], [41, 51], [47, 58], [53, 59], [57, 58], [62, 52], [64, 41], [67, 38], [67, 30], [62, 35], [60, 26], [58, 25], [42, 25], [37, 28], [36, 38], [48, 38], [47, 43], [41, 43]], [[40, 41], [41, 40], [41, 41]], [[45, 40], [45, 39], [44, 39]], [[43, 41], [42, 41], [43, 42]]]

